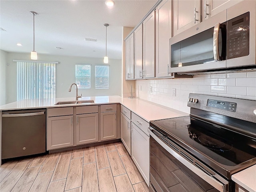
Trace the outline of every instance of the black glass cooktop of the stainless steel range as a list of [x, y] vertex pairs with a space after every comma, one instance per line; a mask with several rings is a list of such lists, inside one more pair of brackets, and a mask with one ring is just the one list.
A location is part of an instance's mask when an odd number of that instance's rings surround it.
[[215, 163], [230, 171], [237, 165], [256, 162], [255, 139], [216, 124], [186, 116], [151, 121], [150, 126], [206, 164]]

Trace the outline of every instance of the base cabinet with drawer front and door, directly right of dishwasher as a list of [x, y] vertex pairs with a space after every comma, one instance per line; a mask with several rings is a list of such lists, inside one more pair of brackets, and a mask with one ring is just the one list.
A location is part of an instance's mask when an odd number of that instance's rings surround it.
[[73, 146], [73, 107], [48, 109], [47, 150]]

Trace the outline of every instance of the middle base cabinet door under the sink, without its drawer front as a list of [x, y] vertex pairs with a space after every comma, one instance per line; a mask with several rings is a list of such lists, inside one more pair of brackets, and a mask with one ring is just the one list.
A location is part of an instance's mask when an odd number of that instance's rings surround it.
[[76, 116], [76, 144], [98, 141], [98, 113]]

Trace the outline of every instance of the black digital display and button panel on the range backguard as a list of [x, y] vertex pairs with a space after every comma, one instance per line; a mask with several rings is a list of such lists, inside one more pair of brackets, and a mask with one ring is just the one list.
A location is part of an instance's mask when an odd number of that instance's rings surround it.
[[231, 112], [236, 112], [236, 103], [228, 101], [220, 101], [214, 99], [208, 99], [207, 106], [217, 109], [227, 110]]

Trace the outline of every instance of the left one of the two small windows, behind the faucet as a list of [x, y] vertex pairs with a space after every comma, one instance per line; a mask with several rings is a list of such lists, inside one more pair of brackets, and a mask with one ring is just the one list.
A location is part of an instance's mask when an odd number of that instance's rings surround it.
[[78, 89], [91, 88], [91, 65], [76, 64], [76, 84]]

